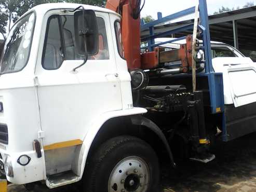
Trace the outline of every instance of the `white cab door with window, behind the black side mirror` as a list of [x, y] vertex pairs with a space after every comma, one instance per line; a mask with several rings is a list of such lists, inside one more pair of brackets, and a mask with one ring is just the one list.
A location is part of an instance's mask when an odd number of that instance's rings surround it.
[[76, 52], [73, 13], [47, 13], [35, 72], [44, 146], [83, 141], [99, 115], [122, 109], [108, 13], [96, 15], [99, 53], [73, 71], [84, 60]]

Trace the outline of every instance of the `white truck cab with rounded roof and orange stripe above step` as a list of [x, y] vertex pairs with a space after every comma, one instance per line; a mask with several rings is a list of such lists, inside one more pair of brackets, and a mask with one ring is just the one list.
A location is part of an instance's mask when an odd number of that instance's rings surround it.
[[[69, 12], [78, 6], [36, 6], [7, 37], [0, 76], [0, 161], [9, 182], [46, 180], [53, 188], [79, 181], [104, 122], [146, 112], [132, 104], [117, 13], [83, 5], [96, 13], [99, 51], [73, 70], [84, 61], [75, 44], [74, 12]], [[62, 181], [52, 177], [58, 173], [66, 173]]]

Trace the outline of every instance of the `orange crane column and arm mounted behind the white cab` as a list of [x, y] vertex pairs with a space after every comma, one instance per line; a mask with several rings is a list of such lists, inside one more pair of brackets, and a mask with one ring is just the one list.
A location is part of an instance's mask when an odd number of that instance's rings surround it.
[[124, 57], [130, 71], [158, 68], [160, 63], [180, 60], [181, 73], [187, 73], [192, 66], [192, 37], [188, 35], [186, 44], [180, 49], [165, 51], [155, 47], [153, 51], [141, 53], [140, 42], [140, 0], [107, 0], [106, 8], [122, 16], [122, 42]]

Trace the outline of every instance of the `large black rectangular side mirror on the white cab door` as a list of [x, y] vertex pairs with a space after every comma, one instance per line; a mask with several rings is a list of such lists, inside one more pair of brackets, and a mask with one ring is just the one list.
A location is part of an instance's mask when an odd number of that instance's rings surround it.
[[80, 56], [93, 56], [99, 50], [99, 30], [95, 11], [79, 10], [74, 13], [75, 44]]

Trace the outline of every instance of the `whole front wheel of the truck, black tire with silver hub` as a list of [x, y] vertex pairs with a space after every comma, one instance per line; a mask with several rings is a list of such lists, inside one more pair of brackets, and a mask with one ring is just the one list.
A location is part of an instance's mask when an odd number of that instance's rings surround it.
[[149, 144], [132, 136], [105, 142], [87, 168], [85, 192], [158, 191], [157, 156]]

